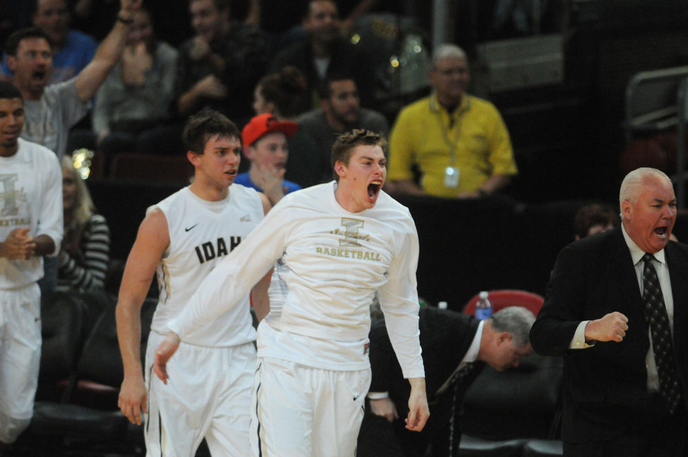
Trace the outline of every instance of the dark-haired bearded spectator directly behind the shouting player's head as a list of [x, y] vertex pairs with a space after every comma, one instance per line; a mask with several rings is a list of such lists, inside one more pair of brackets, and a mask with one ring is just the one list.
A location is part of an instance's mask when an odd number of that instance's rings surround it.
[[[319, 164], [317, 183], [332, 180], [330, 151], [337, 136], [352, 129], [367, 129], [387, 136], [389, 125], [383, 114], [372, 109], [361, 108], [356, 81], [351, 76], [329, 74], [320, 87], [320, 108], [301, 114], [297, 123], [303, 134], [310, 136], [317, 145], [308, 151], [307, 160]], [[299, 151], [299, 161], [304, 160], [304, 151]], [[288, 164], [287, 168], [298, 164]]]

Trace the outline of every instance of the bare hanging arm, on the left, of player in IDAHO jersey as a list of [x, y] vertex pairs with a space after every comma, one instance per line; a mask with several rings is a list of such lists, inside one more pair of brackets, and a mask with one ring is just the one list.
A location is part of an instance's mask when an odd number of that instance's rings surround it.
[[155, 268], [169, 246], [169, 229], [160, 209], [151, 211], [141, 222], [131, 248], [117, 301], [117, 337], [125, 378], [118, 406], [129, 421], [141, 424], [147, 412], [147, 391], [141, 365], [141, 307], [153, 281]]

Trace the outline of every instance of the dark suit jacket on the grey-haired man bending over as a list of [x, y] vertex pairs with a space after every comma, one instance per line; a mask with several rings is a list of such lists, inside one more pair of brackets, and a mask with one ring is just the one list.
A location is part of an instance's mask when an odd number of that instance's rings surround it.
[[[420, 432], [409, 432], [404, 425], [404, 418], [409, 413], [409, 394], [411, 385], [404, 379], [401, 367], [391, 348], [387, 328], [384, 323], [376, 323], [370, 330], [370, 365], [372, 368], [371, 392], [389, 392], [389, 397], [397, 407], [400, 419], [396, 424], [397, 435], [402, 441], [402, 447], [407, 455], [416, 455], [427, 448], [430, 441], [434, 455], [444, 455], [439, 449], [447, 449], [449, 440], [449, 418], [453, 405], [453, 387], [450, 386], [442, 395], [436, 398], [435, 392], [449, 379], [449, 376], [458, 367], [464, 355], [469, 350], [477, 326], [480, 321], [473, 316], [463, 315], [449, 310], [440, 310], [434, 307], [420, 309], [420, 347], [425, 367], [425, 387], [430, 403], [430, 419], [425, 429]], [[484, 363], [476, 362], [479, 366], [471, 373], [469, 379], [464, 382], [464, 387], [469, 385], [480, 373]], [[464, 389], [465, 390], [465, 389]], [[463, 392], [459, 393], [461, 398]], [[453, 409], [455, 419], [458, 421], [460, 404]], [[461, 431], [458, 422], [454, 427], [455, 449], [458, 451]], [[422, 454], [418, 454], [422, 455]], [[446, 454], [448, 455], [448, 454]]]

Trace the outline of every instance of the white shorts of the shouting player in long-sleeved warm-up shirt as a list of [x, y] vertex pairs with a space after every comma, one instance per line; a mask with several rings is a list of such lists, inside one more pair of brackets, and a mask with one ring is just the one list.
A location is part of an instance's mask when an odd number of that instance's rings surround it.
[[353, 457], [370, 369], [335, 371], [258, 359], [253, 457]]

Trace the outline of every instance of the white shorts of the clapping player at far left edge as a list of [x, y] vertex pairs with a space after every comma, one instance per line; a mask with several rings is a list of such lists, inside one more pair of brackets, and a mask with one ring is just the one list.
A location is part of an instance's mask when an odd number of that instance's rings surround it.
[[41, 365], [41, 290], [0, 290], [0, 441], [31, 423]]

